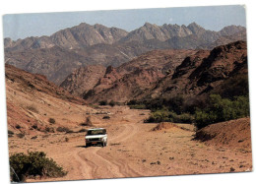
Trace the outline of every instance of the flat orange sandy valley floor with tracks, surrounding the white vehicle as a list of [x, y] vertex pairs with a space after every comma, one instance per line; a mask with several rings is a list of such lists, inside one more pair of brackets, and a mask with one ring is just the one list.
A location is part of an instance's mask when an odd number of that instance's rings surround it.
[[[84, 180], [139, 176], [250, 171], [251, 152], [206, 146], [193, 141], [193, 127], [179, 125], [152, 131], [157, 124], [143, 123], [149, 111], [122, 110], [102, 122], [107, 147], [85, 147], [85, 133], [49, 134], [47, 137], [10, 139], [10, 152], [43, 151], [63, 166], [62, 178], [34, 181]], [[121, 117], [121, 119], [120, 119]], [[99, 125], [98, 125], [99, 126]], [[68, 141], [67, 141], [68, 140]], [[19, 144], [18, 144], [19, 143]], [[19, 147], [17, 147], [19, 145]]]

